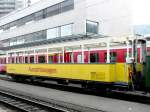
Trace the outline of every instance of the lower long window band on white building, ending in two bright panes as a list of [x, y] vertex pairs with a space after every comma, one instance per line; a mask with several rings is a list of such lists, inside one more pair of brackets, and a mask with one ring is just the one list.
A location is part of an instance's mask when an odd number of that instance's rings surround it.
[[30, 33], [27, 35], [14, 37], [10, 40], [7, 40], [9, 44], [5, 43], [6, 45], [5, 47], [31, 43], [31, 42], [37, 42], [37, 41], [42, 41], [42, 40], [47, 40], [47, 39], [54, 39], [57, 37], [61, 38], [65, 36], [70, 36], [72, 35], [72, 27], [73, 27], [73, 24], [67, 24], [67, 25], [58, 26], [55, 28], [50, 28], [47, 30]]

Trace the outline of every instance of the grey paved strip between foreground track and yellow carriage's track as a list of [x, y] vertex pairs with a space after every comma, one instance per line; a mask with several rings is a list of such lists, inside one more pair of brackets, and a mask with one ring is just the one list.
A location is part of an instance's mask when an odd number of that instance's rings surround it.
[[83, 95], [78, 93], [59, 91], [50, 88], [19, 84], [0, 80], [0, 86], [23, 91], [35, 96], [54, 99], [85, 107], [95, 108], [106, 112], [150, 112], [150, 105], [135, 102], [121, 101], [99, 96]]

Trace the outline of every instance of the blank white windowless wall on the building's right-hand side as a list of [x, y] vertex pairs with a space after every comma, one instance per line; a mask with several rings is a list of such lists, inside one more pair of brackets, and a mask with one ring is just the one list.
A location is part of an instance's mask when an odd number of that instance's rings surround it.
[[108, 36], [132, 34], [131, 0], [87, 0], [87, 19], [99, 22], [99, 33]]

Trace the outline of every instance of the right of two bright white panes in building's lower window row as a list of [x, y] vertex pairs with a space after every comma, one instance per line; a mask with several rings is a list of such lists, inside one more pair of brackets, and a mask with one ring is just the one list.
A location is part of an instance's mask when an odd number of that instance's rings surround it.
[[73, 24], [61, 26], [61, 37], [72, 35]]

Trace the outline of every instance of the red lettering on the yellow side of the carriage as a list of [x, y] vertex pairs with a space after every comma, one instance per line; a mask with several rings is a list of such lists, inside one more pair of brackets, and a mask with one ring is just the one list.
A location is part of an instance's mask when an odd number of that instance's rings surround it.
[[45, 72], [48, 74], [56, 73], [56, 69], [50, 69], [50, 68], [31, 68], [28, 69], [30, 72]]

